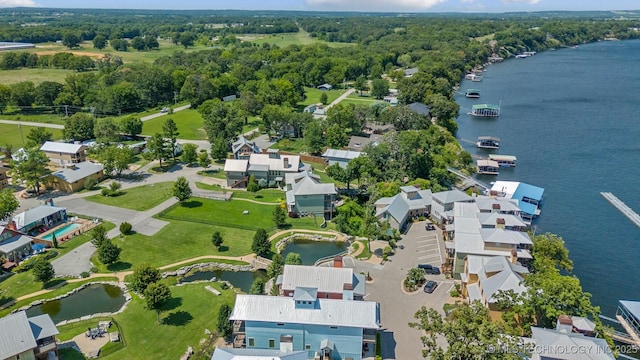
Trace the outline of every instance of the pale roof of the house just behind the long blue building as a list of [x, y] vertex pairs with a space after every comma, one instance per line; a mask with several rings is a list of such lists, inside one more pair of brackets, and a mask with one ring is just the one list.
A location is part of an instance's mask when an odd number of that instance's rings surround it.
[[282, 289], [295, 290], [299, 286], [312, 286], [319, 292], [342, 293], [344, 284], [353, 285], [353, 293], [365, 294], [365, 282], [359, 280], [351, 268], [327, 266], [285, 265]]

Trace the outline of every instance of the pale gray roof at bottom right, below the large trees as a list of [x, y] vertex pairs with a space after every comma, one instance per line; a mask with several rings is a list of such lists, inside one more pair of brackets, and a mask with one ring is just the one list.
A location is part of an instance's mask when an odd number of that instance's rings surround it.
[[[531, 327], [531, 337], [536, 341], [534, 352], [543, 358], [560, 360], [615, 359], [604, 339], [534, 326]], [[568, 351], [567, 349], [580, 349], [581, 351]]]

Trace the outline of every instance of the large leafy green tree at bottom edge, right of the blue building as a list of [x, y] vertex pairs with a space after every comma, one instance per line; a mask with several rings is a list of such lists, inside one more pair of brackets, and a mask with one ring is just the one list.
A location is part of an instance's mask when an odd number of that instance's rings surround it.
[[[435, 309], [425, 306], [414, 317], [417, 322], [409, 323], [409, 326], [424, 331], [420, 338], [424, 358], [516, 360], [521, 359], [518, 351], [526, 353], [517, 338], [508, 335], [504, 324], [491, 321], [489, 309], [479, 301], [458, 305], [447, 320], [443, 320]], [[439, 336], [447, 341], [446, 349], [438, 345]]]

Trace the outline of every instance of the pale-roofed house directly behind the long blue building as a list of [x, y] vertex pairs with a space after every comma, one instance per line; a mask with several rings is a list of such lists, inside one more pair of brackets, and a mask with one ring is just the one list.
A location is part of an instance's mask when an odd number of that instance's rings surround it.
[[320, 299], [362, 300], [366, 294], [364, 275], [342, 267], [340, 256], [334, 259], [333, 265], [285, 265], [276, 280], [280, 295], [290, 297], [298, 287], [312, 287], [317, 289]]

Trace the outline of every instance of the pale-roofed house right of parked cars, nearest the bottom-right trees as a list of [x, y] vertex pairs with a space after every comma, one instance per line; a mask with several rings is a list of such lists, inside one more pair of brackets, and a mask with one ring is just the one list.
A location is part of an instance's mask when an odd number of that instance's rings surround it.
[[524, 286], [524, 274], [529, 270], [515, 262], [511, 257], [469, 255], [465, 260], [462, 279], [462, 296], [469, 302], [480, 301], [489, 308], [489, 316], [493, 320], [502, 319], [502, 312], [497, 308], [495, 295], [499, 291], [513, 291], [522, 294], [527, 290]]

